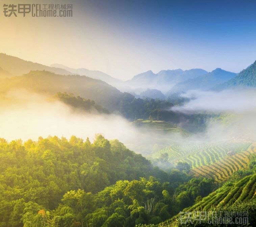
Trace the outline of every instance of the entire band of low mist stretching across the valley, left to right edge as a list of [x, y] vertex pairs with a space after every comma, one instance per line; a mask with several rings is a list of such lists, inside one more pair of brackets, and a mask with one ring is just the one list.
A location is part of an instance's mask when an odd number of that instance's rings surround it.
[[207, 123], [206, 132], [187, 138], [179, 133], [164, 133], [136, 127], [116, 114], [87, 113], [48, 96], [27, 91], [11, 91], [0, 94], [0, 137], [37, 140], [51, 136], [72, 135], [94, 140], [95, 134], [118, 139], [129, 149], [149, 155], [173, 143], [201, 143], [222, 140], [256, 141], [256, 91], [227, 90], [223, 92], [189, 91], [184, 94], [191, 100], [172, 111], [222, 112], [223, 116]]

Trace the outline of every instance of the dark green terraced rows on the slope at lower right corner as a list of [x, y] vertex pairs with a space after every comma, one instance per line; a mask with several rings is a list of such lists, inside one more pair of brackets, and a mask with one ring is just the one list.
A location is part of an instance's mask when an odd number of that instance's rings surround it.
[[242, 201], [247, 201], [254, 198], [256, 190], [256, 174], [249, 175], [238, 181], [232, 186], [222, 187], [208, 196], [204, 197], [202, 201], [195, 205], [185, 208], [185, 211], [192, 211], [199, 208], [200, 210], [208, 210], [211, 206], [218, 204], [233, 204]]

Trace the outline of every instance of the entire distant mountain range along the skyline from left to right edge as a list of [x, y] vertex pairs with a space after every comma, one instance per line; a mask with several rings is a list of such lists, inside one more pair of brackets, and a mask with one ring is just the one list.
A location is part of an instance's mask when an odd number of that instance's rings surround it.
[[[203, 69], [161, 70], [158, 73], [149, 70], [123, 82], [97, 70], [74, 69], [61, 64], [46, 66], [0, 53], [0, 78], [20, 76], [31, 70], [45, 70], [58, 75], [73, 75], [74, 77], [75, 74], [85, 75], [87, 78], [91, 77], [114, 86], [114, 89], [117, 88], [115, 92], [118, 90], [135, 92], [140, 94], [139, 97], [155, 99], [164, 99], [164, 95], [168, 97], [174, 93], [186, 92], [191, 89], [223, 90], [234, 86], [256, 86], [256, 61], [238, 74], [220, 68], [209, 73]], [[86, 98], [90, 97], [87, 96]]]

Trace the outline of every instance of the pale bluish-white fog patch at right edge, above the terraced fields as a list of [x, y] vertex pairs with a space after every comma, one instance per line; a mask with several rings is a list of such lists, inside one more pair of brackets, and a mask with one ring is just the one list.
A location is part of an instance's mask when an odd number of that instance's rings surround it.
[[222, 114], [220, 119], [208, 122], [201, 140], [256, 141], [256, 89], [239, 88], [221, 92], [194, 90], [182, 96], [190, 98], [190, 101], [183, 106], [172, 107], [172, 111]]

